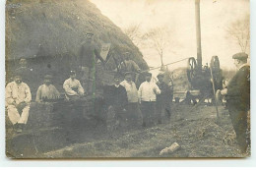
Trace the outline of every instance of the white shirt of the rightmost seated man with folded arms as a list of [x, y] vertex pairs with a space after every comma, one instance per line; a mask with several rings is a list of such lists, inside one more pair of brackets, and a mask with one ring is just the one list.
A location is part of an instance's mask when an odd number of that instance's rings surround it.
[[[72, 80], [71, 78], [64, 82], [63, 88], [68, 95], [83, 95], [85, 92], [80, 82], [76, 79]], [[74, 88], [77, 88], [78, 90], [75, 91]]]

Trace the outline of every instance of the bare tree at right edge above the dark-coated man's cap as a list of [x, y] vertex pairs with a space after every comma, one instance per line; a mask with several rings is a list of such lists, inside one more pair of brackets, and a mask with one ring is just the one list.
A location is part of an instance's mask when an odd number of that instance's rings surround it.
[[237, 20], [226, 29], [229, 37], [233, 38], [240, 46], [242, 52], [250, 50], [250, 17]]

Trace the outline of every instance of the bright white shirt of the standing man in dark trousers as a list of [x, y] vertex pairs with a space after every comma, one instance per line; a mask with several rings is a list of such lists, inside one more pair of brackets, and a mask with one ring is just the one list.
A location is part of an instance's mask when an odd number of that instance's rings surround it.
[[138, 96], [142, 101], [156, 101], [157, 94], [160, 94], [160, 88], [155, 83], [146, 81], [139, 87]]

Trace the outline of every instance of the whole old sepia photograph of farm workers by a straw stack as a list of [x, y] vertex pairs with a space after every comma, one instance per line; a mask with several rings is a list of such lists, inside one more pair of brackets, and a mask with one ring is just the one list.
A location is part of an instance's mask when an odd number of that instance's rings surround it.
[[11, 159], [251, 156], [249, 0], [6, 0]]

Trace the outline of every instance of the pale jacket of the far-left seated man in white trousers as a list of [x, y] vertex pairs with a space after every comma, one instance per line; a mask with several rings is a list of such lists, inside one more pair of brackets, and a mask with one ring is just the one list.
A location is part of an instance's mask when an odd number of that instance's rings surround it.
[[31, 89], [29, 85], [25, 83], [21, 83], [20, 85], [18, 85], [15, 82], [11, 82], [6, 85], [5, 99], [7, 105], [11, 105], [13, 102], [19, 104], [23, 101], [29, 104], [32, 100]]

